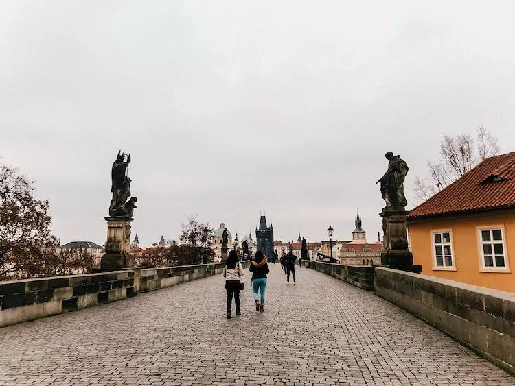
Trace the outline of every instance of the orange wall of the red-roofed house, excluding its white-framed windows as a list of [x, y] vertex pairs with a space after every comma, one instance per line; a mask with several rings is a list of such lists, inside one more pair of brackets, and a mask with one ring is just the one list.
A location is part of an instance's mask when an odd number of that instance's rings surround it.
[[[413, 263], [422, 265], [422, 274], [466, 282], [472, 285], [515, 292], [515, 211], [499, 210], [476, 215], [461, 215], [408, 221]], [[481, 250], [477, 227], [504, 226], [505, 258], [512, 272], [480, 272]], [[456, 271], [433, 270], [431, 230], [452, 231]]]

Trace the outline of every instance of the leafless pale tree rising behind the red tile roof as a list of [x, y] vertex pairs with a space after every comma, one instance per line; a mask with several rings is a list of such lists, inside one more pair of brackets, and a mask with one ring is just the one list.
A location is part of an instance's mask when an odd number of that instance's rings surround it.
[[470, 134], [457, 134], [455, 137], [444, 134], [440, 143], [440, 160], [427, 162], [427, 178], [415, 177], [413, 192], [417, 200], [427, 200], [464, 176], [479, 162], [499, 152], [497, 138], [484, 126], [479, 126], [476, 139]]

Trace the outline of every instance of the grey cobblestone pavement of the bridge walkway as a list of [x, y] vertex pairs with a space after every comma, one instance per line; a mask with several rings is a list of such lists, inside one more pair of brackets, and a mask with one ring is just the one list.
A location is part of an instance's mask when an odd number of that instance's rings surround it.
[[219, 275], [0, 329], [0, 384], [515, 385], [374, 293], [271, 270], [264, 313], [246, 272], [233, 319]]

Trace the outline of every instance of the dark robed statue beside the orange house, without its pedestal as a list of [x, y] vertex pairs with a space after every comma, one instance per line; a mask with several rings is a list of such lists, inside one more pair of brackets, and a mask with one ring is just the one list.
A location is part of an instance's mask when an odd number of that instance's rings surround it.
[[392, 152], [387, 152], [385, 157], [389, 160], [388, 170], [376, 183], [381, 184], [381, 194], [387, 208], [404, 210], [408, 203], [404, 196], [404, 178], [409, 170], [408, 165]]

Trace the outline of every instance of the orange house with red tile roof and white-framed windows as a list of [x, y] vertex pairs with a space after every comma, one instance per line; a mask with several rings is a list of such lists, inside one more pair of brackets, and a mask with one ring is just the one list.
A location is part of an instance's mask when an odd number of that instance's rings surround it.
[[515, 152], [487, 158], [407, 224], [422, 274], [515, 292]]

